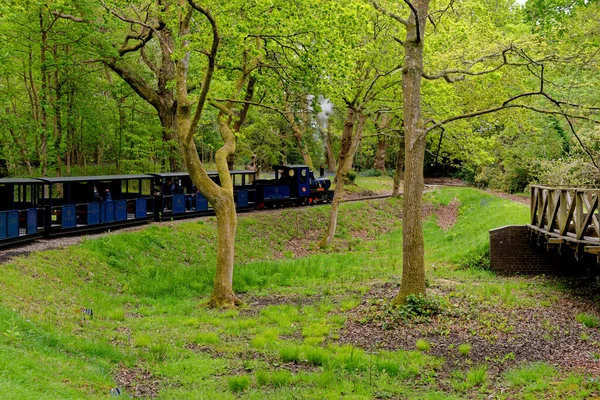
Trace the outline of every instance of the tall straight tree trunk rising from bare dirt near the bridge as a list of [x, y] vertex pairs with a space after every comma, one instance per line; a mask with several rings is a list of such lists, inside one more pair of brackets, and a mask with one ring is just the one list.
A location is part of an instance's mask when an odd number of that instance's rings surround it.
[[[402, 91], [404, 100], [404, 202], [402, 224], [402, 283], [394, 304], [403, 304], [410, 294], [425, 294], [425, 260], [423, 239], [423, 163], [425, 129], [421, 117], [421, 77], [423, 73], [423, 37], [429, 1], [414, 2], [414, 12], [406, 27]], [[419, 24], [420, 26], [417, 26]]]

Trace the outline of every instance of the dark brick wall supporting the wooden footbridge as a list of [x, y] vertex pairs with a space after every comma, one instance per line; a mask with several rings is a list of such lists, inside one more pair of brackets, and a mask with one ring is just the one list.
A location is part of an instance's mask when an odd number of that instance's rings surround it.
[[[546, 250], [529, 239], [525, 225], [511, 225], [490, 232], [490, 259], [492, 271], [501, 275], [580, 275], [587, 274], [591, 258], [577, 262], [570, 249]], [[595, 259], [593, 259], [595, 264]]]

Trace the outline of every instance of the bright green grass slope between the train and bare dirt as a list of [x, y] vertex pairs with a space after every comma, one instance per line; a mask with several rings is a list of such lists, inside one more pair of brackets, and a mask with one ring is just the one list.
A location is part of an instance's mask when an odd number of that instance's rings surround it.
[[[373, 191], [391, 187], [387, 177], [357, 181]], [[427, 195], [440, 207], [454, 198], [460, 210], [453, 227], [440, 229], [434, 217], [425, 222], [428, 278], [451, 279], [474, 301], [536, 301], [544, 287], [468, 266], [485, 257], [487, 229], [525, 222], [527, 208], [474, 189]], [[417, 345], [421, 351], [340, 344], [349, 312], [369, 288], [400, 279], [401, 205], [344, 204], [334, 246], [302, 258], [286, 245], [324, 229], [327, 207], [240, 216], [234, 287], [249, 305], [239, 310], [202, 307], [214, 278], [214, 219], [153, 225], [2, 265], [0, 391], [14, 399], [106, 398], [126, 370], [147, 371], [147, 379], [134, 374], [135, 384], [157, 382], [161, 399], [442, 399], [498, 387], [512, 398], [544, 393], [551, 382], [558, 396], [573, 382], [592, 390], [583, 377], [544, 364], [497, 381], [485, 366], [457, 367], [443, 383], [445, 360], [431, 355], [427, 340]], [[375, 239], [360, 239], [365, 234]], [[94, 318], [84, 319], [82, 307]], [[510, 328], [491, 316], [479, 320]], [[474, 351], [464, 346], [464, 356]]]

